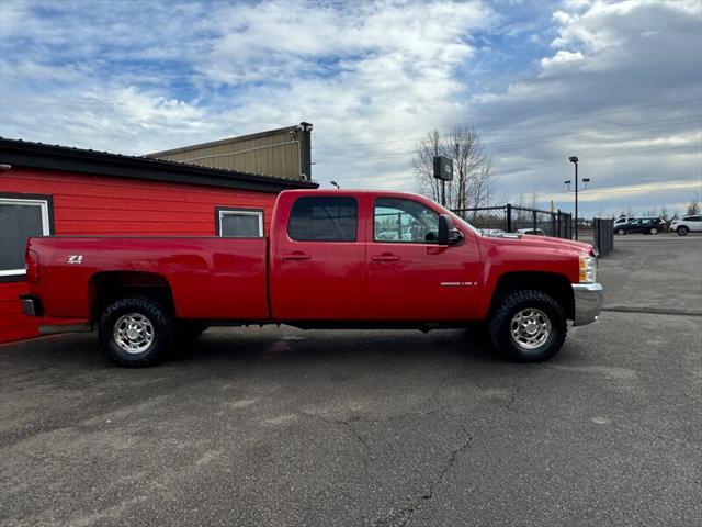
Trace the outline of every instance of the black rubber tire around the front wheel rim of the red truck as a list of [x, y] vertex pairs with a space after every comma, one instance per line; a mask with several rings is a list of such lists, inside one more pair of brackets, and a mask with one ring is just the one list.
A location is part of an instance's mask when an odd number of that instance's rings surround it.
[[[529, 309], [537, 310], [551, 324], [543, 344], [533, 349], [526, 349], [512, 337], [513, 317]], [[513, 291], [492, 311], [488, 330], [492, 346], [507, 358], [518, 362], [541, 362], [558, 352], [566, 340], [568, 322], [563, 306], [550, 294], [533, 290]]]

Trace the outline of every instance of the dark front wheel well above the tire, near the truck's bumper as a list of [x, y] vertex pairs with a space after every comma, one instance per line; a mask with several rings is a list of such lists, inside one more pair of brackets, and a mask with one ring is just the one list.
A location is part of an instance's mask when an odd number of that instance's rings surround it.
[[490, 312], [508, 293], [528, 289], [551, 294], [563, 306], [569, 319], [575, 317], [575, 296], [570, 281], [555, 272], [520, 271], [502, 274], [492, 293]]

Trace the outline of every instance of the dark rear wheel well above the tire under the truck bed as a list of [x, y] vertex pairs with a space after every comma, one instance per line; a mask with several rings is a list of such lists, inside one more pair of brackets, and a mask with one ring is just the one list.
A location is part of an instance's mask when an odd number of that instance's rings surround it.
[[92, 319], [100, 317], [114, 301], [131, 295], [148, 296], [174, 311], [173, 295], [168, 280], [155, 272], [106, 271], [93, 274], [89, 284]]

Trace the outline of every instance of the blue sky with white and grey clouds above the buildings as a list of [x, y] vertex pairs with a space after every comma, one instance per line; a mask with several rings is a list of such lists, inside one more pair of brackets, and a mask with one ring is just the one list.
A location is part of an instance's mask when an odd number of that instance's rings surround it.
[[496, 201], [702, 199], [702, 3], [2, 0], [0, 135], [122, 154], [312, 122], [313, 176], [416, 190], [474, 126]]

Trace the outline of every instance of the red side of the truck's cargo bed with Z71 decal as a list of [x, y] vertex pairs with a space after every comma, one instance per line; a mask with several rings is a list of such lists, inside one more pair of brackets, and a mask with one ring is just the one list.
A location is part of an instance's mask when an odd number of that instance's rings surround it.
[[42, 289], [48, 316], [89, 318], [102, 281], [118, 273], [138, 288], [152, 273], [167, 280], [180, 318], [258, 321], [269, 318], [267, 247], [267, 238], [53, 236], [27, 249], [52, 284]]

